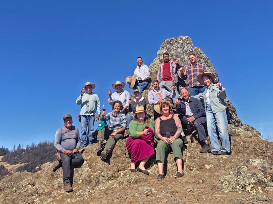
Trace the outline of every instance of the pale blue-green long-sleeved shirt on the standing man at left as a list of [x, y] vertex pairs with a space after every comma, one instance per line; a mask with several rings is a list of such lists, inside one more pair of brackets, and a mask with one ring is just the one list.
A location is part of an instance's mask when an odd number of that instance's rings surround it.
[[98, 115], [101, 114], [99, 97], [93, 92], [91, 94], [84, 93], [82, 96], [80, 95], [76, 100], [76, 104], [82, 105], [80, 112], [81, 115], [95, 115], [96, 110]]

